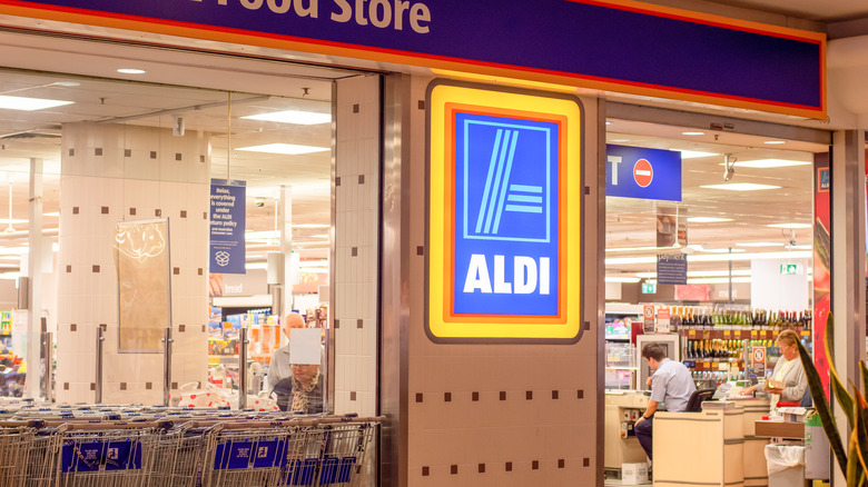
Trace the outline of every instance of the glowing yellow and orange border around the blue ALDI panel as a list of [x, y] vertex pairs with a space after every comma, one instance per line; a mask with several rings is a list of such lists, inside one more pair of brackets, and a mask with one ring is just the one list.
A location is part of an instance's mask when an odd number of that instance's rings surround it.
[[[436, 342], [566, 342], [582, 336], [582, 151], [583, 107], [573, 96], [435, 80], [428, 86], [427, 115], [427, 252], [425, 261], [425, 331]], [[453, 252], [452, 147], [448, 115], [454, 107], [562, 123], [559, 133], [561, 195], [559, 225], [558, 316], [461, 316], [448, 312], [455, 276]], [[565, 126], [565, 127], [564, 127]]]

